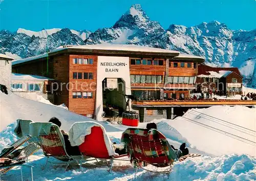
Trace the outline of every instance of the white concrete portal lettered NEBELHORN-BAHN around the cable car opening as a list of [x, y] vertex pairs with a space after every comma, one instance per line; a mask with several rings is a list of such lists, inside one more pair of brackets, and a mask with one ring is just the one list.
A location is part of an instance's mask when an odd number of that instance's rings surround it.
[[129, 57], [98, 57], [95, 116], [99, 121], [103, 120], [102, 81], [105, 78], [121, 78], [125, 82], [124, 94], [131, 95]]

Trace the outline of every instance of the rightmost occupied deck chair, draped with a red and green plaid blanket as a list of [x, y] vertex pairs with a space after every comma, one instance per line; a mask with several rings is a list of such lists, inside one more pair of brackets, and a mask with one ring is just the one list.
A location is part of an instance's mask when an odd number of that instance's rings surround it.
[[138, 128], [126, 129], [122, 134], [121, 142], [127, 145], [128, 155], [132, 165], [136, 168], [136, 173], [139, 168], [151, 171], [143, 168], [151, 164], [156, 167], [169, 167], [168, 171], [159, 171], [169, 175], [173, 163], [179, 160], [165, 136], [156, 129], [149, 131]]

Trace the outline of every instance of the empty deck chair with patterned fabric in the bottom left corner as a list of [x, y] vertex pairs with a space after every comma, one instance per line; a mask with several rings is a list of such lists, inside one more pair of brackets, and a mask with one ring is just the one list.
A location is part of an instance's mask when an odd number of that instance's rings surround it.
[[[22, 174], [22, 167], [31, 168], [31, 178], [33, 180], [33, 166], [26, 164], [28, 157], [38, 151], [40, 147], [35, 143], [30, 143], [24, 148], [20, 149], [20, 154], [12, 159], [3, 157], [0, 159], [0, 175], [6, 174], [15, 166], [20, 166], [20, 173]], [[26, 161], [27, 160], [27, 161]], [[22, 175], [23, 180], [23, 175]]]

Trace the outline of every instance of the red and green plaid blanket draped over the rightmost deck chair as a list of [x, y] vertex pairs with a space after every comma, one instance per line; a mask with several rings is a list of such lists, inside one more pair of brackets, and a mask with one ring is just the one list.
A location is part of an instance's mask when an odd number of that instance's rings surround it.
[[[126, 129], [122, 134], [121, 142], [126, 145], [131, 163], [133, 163], [135, 159], [133, 157], [134, 152], [148, 157], [149, 159], [144, 159], [147, 163], [153, 160], [156, 161], [157, 158], [167, 156], [167, 163], [166, 160], [162, 159], [162, 161], [164, 161], [162, 164], [167, 166], [169, 163], [171, 164], [178, 159], [177, 153], [170, 147], [165, 136], [156, 129], [149, 131], [147, 131], [147, 129], [138, 128]], [[161, 159], [159, 159], [159, 161], [160, 160]], [[141, 162], [142, 161], [137, 165], [143, 165]]]

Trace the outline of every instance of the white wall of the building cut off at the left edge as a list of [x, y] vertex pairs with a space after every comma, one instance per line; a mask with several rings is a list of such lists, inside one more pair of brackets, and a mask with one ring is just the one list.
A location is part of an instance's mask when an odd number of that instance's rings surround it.
[[11, 73], [12, 73], [12, 61], [1, 60], [0, 59], [0, 84], [6, 85], [6, 87], [11, 89]]

